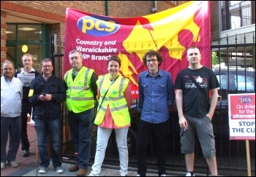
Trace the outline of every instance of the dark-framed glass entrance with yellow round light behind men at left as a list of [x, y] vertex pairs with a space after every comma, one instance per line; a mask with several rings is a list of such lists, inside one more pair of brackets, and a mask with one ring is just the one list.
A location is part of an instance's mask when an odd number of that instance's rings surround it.
[[[42, 33], [42, 31], [44, 32]], [[44, 33], [44, 24], [7, 23], [7, 59], [15, 63], [15, 71], [23, 68], [21, 57], [27, 52], [34, 57], [33, 68], [41, 71], [40, 65], [45, 42]], [[26, 50], [23, 50], [23, 47]]]

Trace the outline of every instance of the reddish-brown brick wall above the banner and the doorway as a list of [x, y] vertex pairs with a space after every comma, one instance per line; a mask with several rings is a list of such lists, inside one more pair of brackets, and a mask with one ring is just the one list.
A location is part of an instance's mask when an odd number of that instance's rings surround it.
[[[177, 5], [186, 2], [177, 1]], [[170, 1], [157, 1], [157, 12], [175, 6]], [[154, 1], [108, 1], [108, 9], [105, 1], [1, 1], [1, 63], [5, 60], [7, 51], [5, 34], [7, 14], [4, 11], [58, 21], [59, 23], [51, 25], [50, 32], [64, 39], [67, 7], [97, 15], [106, 15], [108, 12], [108, 16], [112, 17], [139, 17], [152, 13]]]

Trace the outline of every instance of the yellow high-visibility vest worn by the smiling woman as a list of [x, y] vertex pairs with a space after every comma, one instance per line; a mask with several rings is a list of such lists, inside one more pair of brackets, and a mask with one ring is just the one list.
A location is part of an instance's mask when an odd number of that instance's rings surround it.
[[[105, 74], [99, 76], [96, 83], [100, 90], [100, 98], [94, 124], [100, 125], [103, 122], [106, 110], [109, 106], [113, 122], [115, 122], [118, 127], [128, 125], [131, 122], [131, 118], [129, 116], [127, 100], [124, 98], [124, 90], [126, 90], [129, 84], [129, 79], [126, 79], [123, 76], [118, 76], [118, 79], [111, 85], [110, 74]], [[108, 93], [105, 95], [107, 90]], [[104, 95], [105, 99], [102, 102]], [[102, 105], [100, 106], [101, 103]]]

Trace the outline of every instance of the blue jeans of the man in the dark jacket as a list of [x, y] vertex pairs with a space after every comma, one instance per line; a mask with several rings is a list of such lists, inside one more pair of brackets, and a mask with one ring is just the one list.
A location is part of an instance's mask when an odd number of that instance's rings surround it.
[[61, 167], [61, 118], [43, 119], [34, 118], [37, 131], [37, 143], [41, 160], [41, 167], [48, 168], [50, 157], [47, 149], [47, 135], [50, 135], [53, 148], [53, 167]]

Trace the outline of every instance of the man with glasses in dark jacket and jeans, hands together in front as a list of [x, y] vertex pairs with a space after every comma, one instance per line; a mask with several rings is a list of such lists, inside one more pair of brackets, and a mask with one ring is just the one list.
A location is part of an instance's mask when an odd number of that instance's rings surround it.
[[39, 173], [46, 173], [50, 165], [47, 149], [49, 133], [53, 148], [53, 167], [57, 173], [61, 168], [61, 102], [66, 100], [64, 82], [53, 75], [53, 61], [45, 58], [41, 62], [42, 74], [33, 79], [29, 90], [29, 101], [33, 105], [34, 123], [37, 131], [37, 142], [40, 154]]

